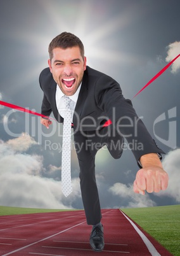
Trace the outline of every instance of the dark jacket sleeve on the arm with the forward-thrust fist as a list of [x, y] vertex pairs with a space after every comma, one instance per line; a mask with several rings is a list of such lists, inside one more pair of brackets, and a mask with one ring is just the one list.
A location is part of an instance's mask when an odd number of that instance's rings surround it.
[[[103, 85], [103, 89], [100, 85]], [[96, 91], [96, 103], [112, 120], [113, 128], [127, 140], [138, 165], [140, 157], [147, 153], [158, 153], [161, 159], [160, 153], [165, 152], [158, 148], [145, 124], [136, 114], [131, 100], [124, 98], [119, 83], [109, 76], [101, 76]]]

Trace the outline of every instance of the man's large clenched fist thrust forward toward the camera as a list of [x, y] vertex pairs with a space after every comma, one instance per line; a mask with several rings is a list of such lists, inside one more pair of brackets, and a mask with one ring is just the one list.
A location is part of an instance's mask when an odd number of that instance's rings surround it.
[[150, 153], [143, 155], [140, 159], [143, 166], [136, 174], [134, 181], [134, 192], [145, 195], [148, 193], [165, 190], [168, 185], [168, 174], [164, 171], [158, 155]]

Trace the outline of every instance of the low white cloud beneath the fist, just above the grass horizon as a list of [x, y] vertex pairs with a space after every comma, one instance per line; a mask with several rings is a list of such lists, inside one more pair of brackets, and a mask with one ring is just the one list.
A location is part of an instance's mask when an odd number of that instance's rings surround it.
[[156, 203], [150, 199], [148, 194], [145, 196], [134, 194], [132, 184], [125, 185], [122, 183], [115, 183], [112, 187], [109, 188], [109, 191], [112, 192], [113, 195], [119, 196], [120, 200], [125, 199], [125, 201], [128, 201], [128, 204], [122, 205], [120, 208], [138, 208], [156, 205]]

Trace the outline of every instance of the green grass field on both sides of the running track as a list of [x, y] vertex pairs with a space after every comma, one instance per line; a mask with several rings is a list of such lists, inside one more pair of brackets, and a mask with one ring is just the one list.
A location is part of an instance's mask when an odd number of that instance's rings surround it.
[[[180, 256], [180, 205], [151, 208], [121, 209], [146, 232], [167, 248], [174, 256]], [[65, 210], [47, 210], [0, 206], [0, 215], [48, 213]], [[163, 255], [162, 255], [163, 256]]]

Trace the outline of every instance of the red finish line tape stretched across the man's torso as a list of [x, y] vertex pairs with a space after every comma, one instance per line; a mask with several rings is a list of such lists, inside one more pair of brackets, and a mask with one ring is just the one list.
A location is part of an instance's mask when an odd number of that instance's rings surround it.
[[[164, 73], [164, 71], [165, 71], [167, 68], [169, 68], [169, 66], [170, 66], [179, 56], [180, 56], [180, 54], [177, 55], [173, 60], [171, 60], [163, 69], [161, 69], [161, 70], [157, 73], [157, 75], [153, 76], [153, 78], [151, 78], [151, 80], [150, 80], [148, 83], [146, 83], [146, 85], [145, 85], [141, 90], [139, 90], [139, 92], [138, 92], [134, 97], [136, 97], [140, 92], [142, 92], [146, 87], [148, 87], [148, 85], [150, 85], [150, 83], [152, 83], [154, 80], [156, 80], [156, 79], [158, 78], [158, 76], [162, 75], [162, 73]], [[134, 97], [133, 97], [132, 99], [134, 99]], [[37, 116], [39, 116], [39, 117], [45, 117], [45, 118], [49, 118], [49, 119], [51, 119], [51, 120], [55, 120], [55, 118], [46, 117], [45, 115], [41, 115], [41, 114], [39, 114], [39, 113], [37, 113], [37, 112], [31, 111], [31, 110], [27, 110], [27, 108], [22, 108], [21, 106], [17, 106], [17, 105], [11, 104], [11, 103], [6, 103], [5, 101], [0, 101], [0, 104], [3, 105], [3, 106], [6, 106], [6, 107], [8, 107], [8, 108], [13, 108], [13, 109], [18, 110], [18, 111], [22, 111], [22, 112], [26, 112], [26, 113], [29, 113], [29, 114], [32, 114], [32, 115], [37, 115]], [[105, 126], [108, 126], [108, 125], [110, 125], [110, 124], [112, 124], [112, 122], [111, 122], [111, 120], [108, 120], [108, 121], [105, 122], [104, 125], [105, 125]]]

